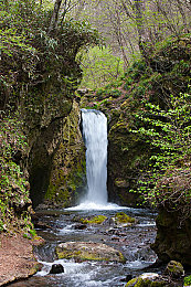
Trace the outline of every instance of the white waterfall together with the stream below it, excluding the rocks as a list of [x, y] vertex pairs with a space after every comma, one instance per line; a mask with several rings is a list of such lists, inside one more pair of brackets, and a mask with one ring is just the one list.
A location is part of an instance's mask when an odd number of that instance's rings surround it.
[[[156, 236], [155, 216], [148, 210], [120, 208], [107, 202], [107, 119], [96, 110], [82, 110], [83, 137], [86, 145], [87, 193], [78, 206], [67, 210], [39, 211], [42, 228], [38, 234], [46, 243], [35, 253], [43, 264], [42, 270], [32, 278], [14, 283], [14, 287], [64, 286], [64, 287], [117, 287], [125, 286], [126, 276], [142, 273], [142, 268], [156, 261], [150, 243]], [[132, 226], [116, 226], [112, 217], [118, 211], [137, 219]], [[81, 230], [76, 219], [105, 215], [99, 225], [87, 225]], [[61, 242], [81, 241], [105, 243], [119, 249], [126, 263], [74, 262], [56, 259], [55, 246]], [[53, 263], [60, 263], [64, 273], [51, 275]]]

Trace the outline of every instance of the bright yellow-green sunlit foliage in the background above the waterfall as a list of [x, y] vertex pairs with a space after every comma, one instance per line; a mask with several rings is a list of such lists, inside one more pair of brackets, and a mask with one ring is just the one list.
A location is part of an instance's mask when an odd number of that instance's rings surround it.
[[124, 63], [118, 56], [114, 56], [110, 47], [92, 47], [83, 59], [83, 81], [81, 86], [87, 88], [99, 88], [116, 81], [124, 72]]

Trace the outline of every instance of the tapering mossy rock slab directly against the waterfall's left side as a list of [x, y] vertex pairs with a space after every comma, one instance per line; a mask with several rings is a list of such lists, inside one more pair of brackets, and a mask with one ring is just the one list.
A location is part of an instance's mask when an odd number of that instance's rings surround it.
[[61, 141], [53, 156], [45, 203], [71, 206], [78, 202], [86, 181], [85, 146], [79, 130], [81, 110], [74, 100], [64, 119]]

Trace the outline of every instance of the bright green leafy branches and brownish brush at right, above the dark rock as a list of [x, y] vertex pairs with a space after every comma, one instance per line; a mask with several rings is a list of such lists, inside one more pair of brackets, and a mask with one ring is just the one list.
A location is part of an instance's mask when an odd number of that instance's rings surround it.
[[137, 113], [142, 127], [131, 130], [152, 148], [148, 172], [139, 180], [139, 192], [153, 205], [163, 204], [190, 214], [191, 115], [190, 94], [169, 98], [167, 109], [145, 102]]

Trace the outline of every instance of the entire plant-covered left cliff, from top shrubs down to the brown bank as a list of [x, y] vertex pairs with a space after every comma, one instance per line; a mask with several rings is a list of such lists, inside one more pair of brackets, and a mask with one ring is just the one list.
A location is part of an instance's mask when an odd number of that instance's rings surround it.
[[97, 42], [87, 22], [66, 21], [56, 3], [0, 2], [0, 230], [32, 228], [29, 196], [36, 205], [47, 190], [82, 77], [76, 54]]

